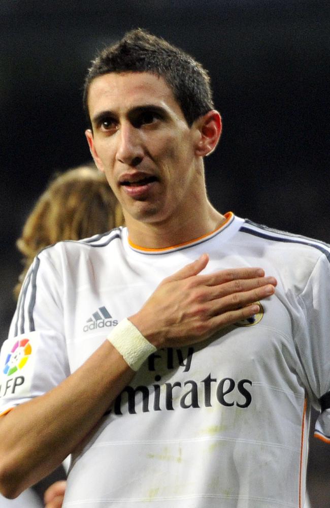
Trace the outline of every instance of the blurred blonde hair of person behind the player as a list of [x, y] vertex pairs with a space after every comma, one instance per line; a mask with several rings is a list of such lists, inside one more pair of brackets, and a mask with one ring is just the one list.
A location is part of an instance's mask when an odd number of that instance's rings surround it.
[[16, 242], [24, 256], [24, 269], [14, 288], [15, 297], [18, 298], [30, 264], [44, 247], [60, 240], [105, 233], [123, 222], [121, 207], [106, 177], [92, 163], [55, 175]]

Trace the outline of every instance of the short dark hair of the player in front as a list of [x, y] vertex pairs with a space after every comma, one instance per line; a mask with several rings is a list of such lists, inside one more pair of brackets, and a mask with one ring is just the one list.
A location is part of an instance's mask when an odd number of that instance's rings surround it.
[[106, 47], [92, 61], [83, 93], [88, 120], [90, 83], [97, 76], [111, 72], [150, 72], [161, 76], [171, 88], [189, 126], [214, 107], [210, 78], [203, 66], [164, 39], [138, 28]]

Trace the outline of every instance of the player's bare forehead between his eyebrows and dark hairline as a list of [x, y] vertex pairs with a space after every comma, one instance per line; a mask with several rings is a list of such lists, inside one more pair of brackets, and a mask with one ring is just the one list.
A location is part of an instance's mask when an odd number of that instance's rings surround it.
[[166, 81], [148, 72], [109, 73], [97, 76], [88, 90], [90, 116], [111, 110], [124, 114], [130, 109], [153, 104], [183, 117]]

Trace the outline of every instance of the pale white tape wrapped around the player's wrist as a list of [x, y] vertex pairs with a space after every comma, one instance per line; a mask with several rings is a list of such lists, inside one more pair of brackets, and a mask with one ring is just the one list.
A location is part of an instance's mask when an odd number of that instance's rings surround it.
[[112, 330], [107, 339], [135, 371], [139, 370], [151, 353], [157, 351], [157, 348], [126, 317]]

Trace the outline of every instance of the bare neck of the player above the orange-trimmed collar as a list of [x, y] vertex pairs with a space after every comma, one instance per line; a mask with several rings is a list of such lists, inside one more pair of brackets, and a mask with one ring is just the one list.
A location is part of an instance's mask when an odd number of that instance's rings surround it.
[[171, 217], [160, 222], [142, 222], [131, 216], [125, 217], [129, 240], [144, 248], [161, 249], [200, 238], [216, 230], [226, 220], [211, 203], [207, 202], [204, 213]]

